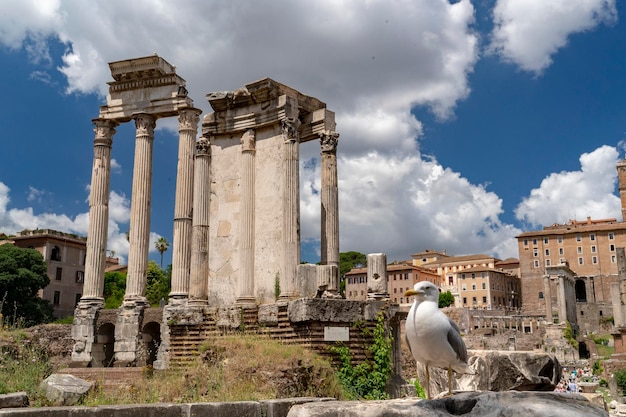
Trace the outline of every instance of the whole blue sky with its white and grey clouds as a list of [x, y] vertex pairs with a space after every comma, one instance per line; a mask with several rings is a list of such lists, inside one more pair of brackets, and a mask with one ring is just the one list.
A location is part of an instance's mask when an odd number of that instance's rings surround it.
[[[341, 251], [517, 257], [522, 231], [622, 220], [625, 25], [614, 0], [0, 0], [0, 231], [86, 234], [107, 63], [158, 53], [203, 114], [207, 93], [263, 77], [336, 112]], [[151, 230], [171, 242], [177, 123], [157, 128]], [[109, 248], [123, 260], [133, 152], [122, 125]], [[318, 155], [302, 147], [311, 262]]]

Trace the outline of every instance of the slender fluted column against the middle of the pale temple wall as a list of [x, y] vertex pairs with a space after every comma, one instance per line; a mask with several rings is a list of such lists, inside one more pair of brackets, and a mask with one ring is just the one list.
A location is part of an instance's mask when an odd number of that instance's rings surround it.
[[241, 137], [241, 227], [240, 282], [237, 304], [256, 304], [254, 296], [254, 157], [255, 132], [248, 129]]

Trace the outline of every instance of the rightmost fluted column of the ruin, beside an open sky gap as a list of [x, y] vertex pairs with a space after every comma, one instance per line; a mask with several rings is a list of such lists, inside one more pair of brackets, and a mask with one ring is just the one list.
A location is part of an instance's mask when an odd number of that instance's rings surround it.
[[337, 142], [339, 134], [320, 133], [322, 148], [321, 264], [339, 267], [339, 187]]

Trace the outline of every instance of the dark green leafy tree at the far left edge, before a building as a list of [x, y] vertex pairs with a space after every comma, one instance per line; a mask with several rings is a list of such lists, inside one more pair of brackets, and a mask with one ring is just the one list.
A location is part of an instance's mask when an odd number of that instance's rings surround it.
[[50, 302], [38, 296], [50, 284], [47, 269], [36, 250], [0, 245], [0, 313], [5, 324], [29, 327], [52, 321]]

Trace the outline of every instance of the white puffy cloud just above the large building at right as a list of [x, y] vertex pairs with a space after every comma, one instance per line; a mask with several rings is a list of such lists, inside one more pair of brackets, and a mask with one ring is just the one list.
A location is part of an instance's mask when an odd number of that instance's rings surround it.
[[515, 209], [519, 220], [530, 225], [566, 223], [590, 216], [621, 219], [615, 147], [602, 146], [580, 156], [580, 171], [562, 171], [544, 178]]

